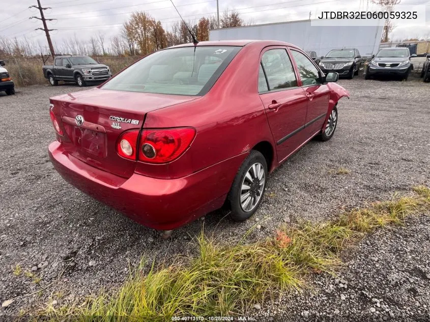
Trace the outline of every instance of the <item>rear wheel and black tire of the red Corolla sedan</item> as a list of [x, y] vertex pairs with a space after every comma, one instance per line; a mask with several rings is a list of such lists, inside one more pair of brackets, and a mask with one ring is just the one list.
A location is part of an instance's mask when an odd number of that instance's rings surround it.
[[251, 150], [242, 162], [227, 195], [230, 218], [234, 221], [245, 221], [251, 217], [260, 206], [266, 184], [266, 159], [259, 151]]

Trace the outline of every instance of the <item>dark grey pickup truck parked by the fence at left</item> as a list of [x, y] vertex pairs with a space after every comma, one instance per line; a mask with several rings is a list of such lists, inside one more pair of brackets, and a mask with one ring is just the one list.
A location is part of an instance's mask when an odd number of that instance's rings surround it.
[[108, 66], [97, 63], [89, 56], [55, 56], [54, 65], [44, 65], [42, 69], [52, 86], [64, 80], [82, 87], [89, 83], [102, 83], [112, 77]]

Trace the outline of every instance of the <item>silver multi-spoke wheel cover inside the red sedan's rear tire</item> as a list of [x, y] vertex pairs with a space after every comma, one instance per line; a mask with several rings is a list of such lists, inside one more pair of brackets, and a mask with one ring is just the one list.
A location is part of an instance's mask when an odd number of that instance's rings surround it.
[[265, 171], [261, 163], [254, 163], [246, 171], [240, 191], [240, 207], [245, 212], [252, 211], [263, 195]]

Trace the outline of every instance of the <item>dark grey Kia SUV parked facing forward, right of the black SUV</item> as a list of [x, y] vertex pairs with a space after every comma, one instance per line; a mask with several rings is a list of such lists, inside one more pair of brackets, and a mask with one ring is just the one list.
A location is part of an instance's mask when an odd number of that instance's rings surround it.
[[375, 76], [389, 75], [397, 76], [407, 80], [409, 73], [414, 69], [414, 65], [410, 61], [411, 55], [408, 48], [393, 47], [383, 48], [375, 55], [372, 55], [372, 60], [367, 65], [365, 79], [370, 79]]

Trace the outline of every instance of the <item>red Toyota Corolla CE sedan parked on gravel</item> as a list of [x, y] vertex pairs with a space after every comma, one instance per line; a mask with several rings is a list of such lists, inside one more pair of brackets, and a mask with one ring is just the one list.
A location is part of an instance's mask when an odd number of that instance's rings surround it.
[[55, 169], [146, 226], [170, 230], [225, 207], [252, 216], [267, 175], [349, 97], [300, 48], [200, 42], [150, 54], [95, 89], [50, 99]]

